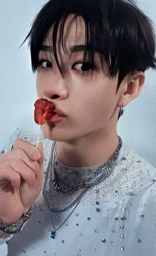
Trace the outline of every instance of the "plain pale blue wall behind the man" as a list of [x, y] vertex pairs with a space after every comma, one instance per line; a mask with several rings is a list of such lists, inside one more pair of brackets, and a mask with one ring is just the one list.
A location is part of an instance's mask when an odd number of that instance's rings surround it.
[[[34, 123], [34, 101], [37, 99], [35, 75], [30, 67], [26, 37], [36, 11], [46, 0], [0, 1], [0, 148], [16, 128], [31, 128]], [[155, 0], [137, 1], [139, 7], [155, 22]], [[156, 72], [147, 71], [139, 98], [125, 108], [118, 123], [118, 134], [124, 142], [156, 166]], [[5, 247], [0, 255], [6, 255]]]

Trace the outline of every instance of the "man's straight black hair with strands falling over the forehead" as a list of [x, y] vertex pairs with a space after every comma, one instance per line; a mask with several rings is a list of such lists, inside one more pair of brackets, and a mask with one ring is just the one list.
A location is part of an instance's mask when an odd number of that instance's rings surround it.
[[[50, 0], [32, 23], [29, 38], [32, 70], [38, 67], [38, 53], [53, 26], [52, 48], [61, 71], [56, 50], [58, 29], [63, 49], [63, 28], [69, 15], [85, 22], [85, 44], [91, 66], [98, 52], [107, 75], [118, 74], [118, 88], [128, 73], [156, 68], [155, 33], [151, 20], [132, 1], [126, 0]], [[25, 40], [24, 40], [25, 41]]]

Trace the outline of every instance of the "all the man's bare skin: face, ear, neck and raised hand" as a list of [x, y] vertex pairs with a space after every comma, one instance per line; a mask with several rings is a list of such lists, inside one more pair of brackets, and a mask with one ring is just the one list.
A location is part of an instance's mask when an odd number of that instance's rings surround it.
[[[50, 45], [52, 30], [44, 44]], [[83, 52], [71, 55], [70, 47], [85, 44], [85, 26], [81, 17], [76, 24], [69, 16], [64, 28], [67, 54], [58, 38], [58, 57], [63, 76], [52, 52], [40, 51], [38, 65], [38, 97], [52, 101], [65, 114], [60, 122], [46, 122], [46, 138], [56, 140], [59, 160], [70, 166], [89, 167], [102, 163], [118, 146], [116, 124], [121, 106], [135, 99], [145, 81], [145, 75], [136, 71], [127, 75], [116, 94], [118, 76], [106, 77], [98, 54], [95, 69], [82, 72]], [[38, 198], [44, 179], [42, 146], [38, 148], [18, 138], [14, 151], [0, 155], [0, 218], [7, 224], [16, 222]], [[0, 237], [3, 237], [0, 232]], [[6, 234], [5, 234], [6, 235]]]

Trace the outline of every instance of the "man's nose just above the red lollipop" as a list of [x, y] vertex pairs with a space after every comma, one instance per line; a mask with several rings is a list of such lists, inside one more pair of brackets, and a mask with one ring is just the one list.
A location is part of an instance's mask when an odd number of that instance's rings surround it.
[[[41, 83], [41, 81], [38, 81]], [[42, 80], [42, 85], [40, 85], [40, 89], [42, 90], [42, 97], [46, 97], [48, 99], [57, 99], [57, 100], [65, 100], [69, 95], [67, 79], [63, 77], [60, 73], [54, 75], [46, 76], [46, 79]]]

